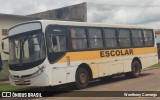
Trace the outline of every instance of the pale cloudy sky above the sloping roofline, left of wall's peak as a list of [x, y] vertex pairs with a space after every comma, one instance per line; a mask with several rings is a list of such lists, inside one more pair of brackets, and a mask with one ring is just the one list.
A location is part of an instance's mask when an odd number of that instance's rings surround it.
[[28, 15], [81, 3], [79, 0], [0, 0], [0, 13]]

